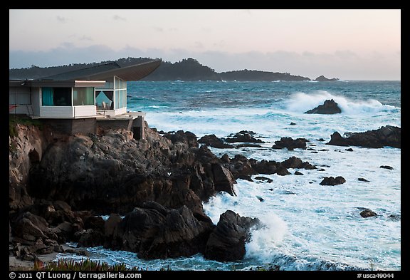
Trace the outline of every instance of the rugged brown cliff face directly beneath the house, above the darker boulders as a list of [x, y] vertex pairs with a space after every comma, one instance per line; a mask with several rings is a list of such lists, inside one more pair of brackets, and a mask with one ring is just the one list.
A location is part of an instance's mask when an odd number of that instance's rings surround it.
[[145, 129], [146, 139], [135, 140], [127, 130], [57, 135], [18, 125], [10, 139], [11, 209], [46, 199], [110, 214], [156, 201], [173, 209], [186, 205], [204, 217], [202, 200], [219, 190], [233, 194], [231, 172], [191, 133], [169, 139]]

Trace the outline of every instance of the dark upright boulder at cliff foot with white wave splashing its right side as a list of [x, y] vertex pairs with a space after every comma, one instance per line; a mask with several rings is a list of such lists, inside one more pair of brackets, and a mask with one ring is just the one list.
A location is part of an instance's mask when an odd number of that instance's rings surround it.
[[214, 232], [206, 242], [204, 256], [216, 261], [237, 261], [243, 259], [245, 244], [250, 238], [250, 229], [259, 223], [257, 218], [241, 217], [227, 210], [219, 217]]

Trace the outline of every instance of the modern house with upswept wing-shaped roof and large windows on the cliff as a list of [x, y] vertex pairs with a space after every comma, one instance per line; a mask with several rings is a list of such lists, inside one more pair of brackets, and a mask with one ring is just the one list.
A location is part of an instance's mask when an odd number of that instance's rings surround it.
[[104, 63], [36, 80], [9, 80], [9, 113], [40, 119], [65, 133], [125, 128], [144, 138], [142, 112], [127, 111], [127, 81], [138, 81], [161, 60], [121, 67]]

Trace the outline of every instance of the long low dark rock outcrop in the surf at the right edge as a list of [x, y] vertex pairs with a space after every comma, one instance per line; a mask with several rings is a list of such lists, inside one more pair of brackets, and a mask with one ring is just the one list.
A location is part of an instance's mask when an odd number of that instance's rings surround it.
[[346, 138], [335, 131], [330, 136], [327, 145], [362, 146], [379, 148], [384, 146], [401, 148], [401, 128], [386, 125], [377, 130], [367, 130], [362, 133], [345, 133]]

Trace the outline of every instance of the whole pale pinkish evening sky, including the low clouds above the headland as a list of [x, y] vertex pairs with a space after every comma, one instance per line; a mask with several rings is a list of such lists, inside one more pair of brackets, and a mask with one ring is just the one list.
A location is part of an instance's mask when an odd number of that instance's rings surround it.
[[9, 68], [127, 57], [195, 58], [218, 73], [401, 80], [401, 10], [9, 10]]

